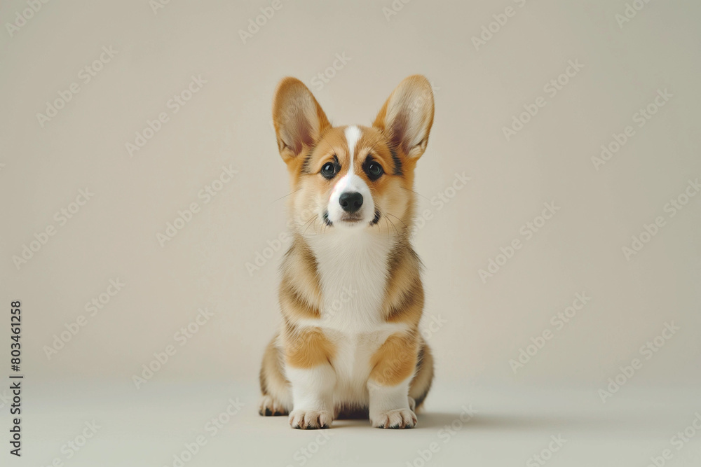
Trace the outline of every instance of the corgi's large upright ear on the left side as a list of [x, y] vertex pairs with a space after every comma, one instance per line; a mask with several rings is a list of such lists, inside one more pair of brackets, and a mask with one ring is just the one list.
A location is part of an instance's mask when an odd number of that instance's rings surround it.
[[312, 148], [331, 124], [308, 88], [288, 76], [273, 97], [273, 124], [285, 163]]

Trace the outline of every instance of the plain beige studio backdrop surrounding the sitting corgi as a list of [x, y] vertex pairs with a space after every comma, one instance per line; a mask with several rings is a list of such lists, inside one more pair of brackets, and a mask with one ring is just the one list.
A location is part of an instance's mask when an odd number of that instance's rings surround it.
[[[251, 435], [253, 445], [240, 447], [238, 459], [279, 456], [279, 465], [299, 465], [293, 453], [306, 440], [283, 430], [285, 420], [254, 414], [259, 358], [278, 321], [275, 290], [284, 246], [266, 248], [276, 246], [285, 231], [280, 198], [289, 193], [271, 127], [275, 83], [297, 76], [333, 123], [368, 125], [395, 85], [415, 73], [435, 86], [435, 123], [415, 187], [423, 195], [419, 208], [433, 217], [414, 239], [426, 263], [426, 313], [442, 323], [431, 329], [432, 321], [426, 322], [437, 358], [435, 393], [424, 419], [428, 434], [416, 431], [411, 436], [419, 438], [397, 441], [408, 442], [408, 451], [397, 445], [390, 449], [394, 456], [356, 460], [405, 465], [416, 454], [404, 453], [426, 444], [421, 433], [426, 440], [436, 437], [443, 421], [436, 413], [449, 423], [450, 414], [473, 403], [486, 408], [481, 426], [487, 433], [494, 435], [494, 426], [506, 433], [497, 431], [497, 439], [478, 443], [477, 451], [472, 445], [463, 452], [453, 443], [436, 454], [444, 462], [472, 456], [482, 465], [505, 465], [496, 459], [525, 463], [558, 429], [553, 419], [527, 417], [552, 410], [558, 419], [563, 411], [592, 407], [587, 413], [599, 411], [604, 419], [582, 428], [579, 440], [590, 444], [570, 441], [569, 453], [559, 454], [560, 465], [587, 461], [575, 454], [577, 446], [588, 453], [609, 449], [597, 465], [645, 465], [701, 409], [701, 196], [690, 197], [674, 217], [665, 211], [689, 180], [701, 176], [701, 6], [653, 1], [619, 27], [616, 15], [625, 15], [625, 1], [396, 0], [396, 14], [390, 15], [390, 1], [282, 0], [244, 43], [239, 30], [270, 5], [172, 0], [154, 13], [146, 0], [50, 1], [12, 35], [4, 25], [0, 284], [4, 302], [23, 304], [23, 372], [27, 393], [36, 391], [26, 402], [34, 426], [26, 435], [32, 465], [61, 456], [60, 445], [95, 412], [116, 431], [104, 428], [107, 434], [76, 456], [74, 465], [94, 465], [91, 459], [110, 452], [114, 462], [124, 456], [114, 465], [141, 465], [126, 460], [137, 448], [143, 465], [165, 465], [199, 420], [217, 414], [233, 395], [247, 403], [247, 418], [239, 417], [236, 429], [260, 430]], [[476, 50], [472, 37], [507, 7], [513, 15]], [[25, 8], [24, 1], [2, 2], [3, 23]], [[496, 30], [496, 23], [491, 27]], [[116, 55], [85, 83], [81, 69], [92, 67], [103, 47]], [[330, 70], [336, 54], [348, 58]], [[552, 96], [544, 86], [569, 61], [583, 68]], [[334, 75], [321, 89], [313, 81], [320, 73]], [[206, 83], [173, 113], [169, 99], [188, 88], [191, 76]], [[79, 92], [42, 127], [36, 114], [72, 83]], [[672, 97], [639, 127], [634, 114], [654, 102], [658, 90]], [[538, 97], [545, 106], [507, 141], [503, 127]], [[162, 112], [168, 122], [130, 156], [125, 144]], [[634, 136], [595, 169], [592, 157], [627, 125]], [[198, 193], [219, 178], [222, 166], [238, 174], [205, 203]], [[454, 193], [449, 187], [456, 173], [470, 181]], [[69, 209], [86, 188], [94, 196], [60, 225], [55, 213]], [[438, 209], [430, 200], [446, 190], [454, 197]], [[161, 246], [158, 232], [193, 202], [198, 213]], [[545, 202], [559, 211], [526, 239], [519, 230]], [[627, 260], [622, 247], [657, 216], [665, 225]], [[13, 256], [50, 226], [55, 235], [16, 267]], [[484, 283], [479, 270], [514, 239], [522, 240], [522, 248]], [[272, 257], [258, 270], [247, 269], [258, 254], [268, 253]], [[107, 291], [110, 279], [125, 286], [90, 316], [86, 303]], [[551, 317], [578, 292], [592, 299], [557, 330]], [[205, 307], [214, 316], [181, 347], [175, 334]], [[48, 358], [46, 346], [81, 315], [85, 326]], [[647, 360], [640, 347], [672, 322], [679, 330]], [[512, 371], [510, 360], [544, 330], [552, 330], [552, 339], [524, 368]], [[176, 354], [137, 389], [132, 375], [171, 344]], [[633, 358], [642, 368], [602, 403], [597, 391]], [[207, 384], [214, 389], [205, 389]], [[92, 405], [83, 393], [93, 397]], [[175, 402], [179, 397], [191, 405]], [[202, 400], [212, 407], [198, 405]], [[489, 407], [507, 410], [510, 404], [533, 412], [513, 424], [494, 412], [497, 418], [490, 418]], [[656, 420], [650, 426], [659, 432], [624, 437], [627, 442], [617, 447], [606, 444], [609, 435], [591, 438], [604, 426], [614, 433], [640, 426], [606, 422], [610, 410], [625, 407], [634, 414], [657, 407], [659, 414], [648, 421]], [[184, 412], [193, 421], [183, 421]], [[658, 423], [662, 414], [670, 417], [668, 426]], [[143, 428], [138, 436], [128, 429], [135, 421]], [[546, 434], [531, 442], [526, 433], [538, 426]], [[280, 442], [291, 443], [289, 452], [263, 447], [260, 454], [252, 447], [273, 436], [266, 431], [272, 427]], [[368, 441], [362, 436], [380, 436], [352, 432], [363, 446]], [[477, 424], [468, 439], [481, 434]], [[111, 444], [129, 435], [135, 444]], [[353, 461], [344, 449], [355, 451], [339, 447], [350, 442], [343, 432], [334, 431], [334, 437], [336, 447], [311, 461]], [[224, 465], [231, 442], [217, 442], [188, 465]], [[509, 442], [522, 443], [522, 451], [505, 452]], [[685, 454], [688, 459], [676, 455], [677, 465], [701, 459], [695, 443], [695, 450], [685, 451], [695, 453]], [[382, 446], [377, 452], [387, 454]]]

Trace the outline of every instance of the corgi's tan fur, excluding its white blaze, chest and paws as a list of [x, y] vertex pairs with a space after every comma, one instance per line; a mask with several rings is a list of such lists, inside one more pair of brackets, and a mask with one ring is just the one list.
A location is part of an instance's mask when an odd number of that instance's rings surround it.
[[[273, 123], [280, 155], [290, 173], [292, 193], [288, 207], [294, 239], [281, 267], [279, 302], [283, 326], [266, 347], [260, 372], [264, 395], [260, 411], [264, 415], [287, 414], [293, 409], [285, 365], [333, 366], [337, 349], [332, 340], [321, 327], [302, 324], [321, 319], [324, 306], [317, 260], [304, 235], [323, 234], [328, 228], [318, 211], [328, 202], [335, 181], [318, 175], [321, 167], [337, 160], [341, 166], [338, 176], [343, 176], [350, 170], [351, 161], [346, 127], [332, 127], [311, 92], [295, 78], [283, 79], [275, 91]], [[369, 377], [374, 384], [395, 386], [413, 375], [408, 396], [417, 406], [426, 398], [433, 379], [433, 356], [418, 332], [424, 305], [421, 260], [411, 248], [409, 232], [415, 205], [414, 169], [426, 150], [432, 124], [430, 85], [423, 76], [410, 76], [383, 104], [372, 127], [359, 126], [362, 137], [353, 159], [354, 174], [367, 183], [381, 214], [379, 223], [372, 228], [393, 239], [381, 319], [407, 328], [379, 345], [371, 358]], [[409, 138], [409, 134], [416, 137]], [[362, 169], [368, 154], [385, 172], [376, 181]], [[367, 407], [340, 406], [336, 407], [336, 416], [358, 408], [365, 410], [367, 416]]]

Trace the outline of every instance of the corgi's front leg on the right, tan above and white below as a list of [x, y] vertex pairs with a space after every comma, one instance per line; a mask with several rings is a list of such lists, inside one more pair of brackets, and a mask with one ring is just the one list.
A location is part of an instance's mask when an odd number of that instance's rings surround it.
[[367, 382], [369, 415], [376, 428], [413, 428], [416, 414], [409, 400], [409, 384], [416, 369], [416, 340], [391, 335], [373, 356]]

